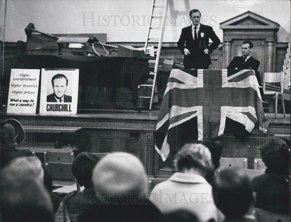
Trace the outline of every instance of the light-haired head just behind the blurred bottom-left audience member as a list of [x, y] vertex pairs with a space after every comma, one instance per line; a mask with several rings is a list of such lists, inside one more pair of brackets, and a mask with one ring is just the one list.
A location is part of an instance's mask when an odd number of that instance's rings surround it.
[[20, 177], [31, 177], [40, 183], [44, 181], [44, 171], [41, 161], [37, 157], [18, 157], [10, 161], [7, 167], [14, 171], [13, 175], [18, 179], [21, 179]]

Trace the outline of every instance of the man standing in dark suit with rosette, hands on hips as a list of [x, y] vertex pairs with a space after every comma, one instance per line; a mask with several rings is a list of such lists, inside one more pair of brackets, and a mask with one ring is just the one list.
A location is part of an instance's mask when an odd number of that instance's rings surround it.
[[[200, 24], [201, 13], [198, 9], [192, 9], [189, 15], [192, 25], [182, 29], [177, 42], [184, 55], [184, 69], [208, 69], [211, 64], [210, 54], [217, 49], [220, 40], [212, 27]], [[212, 40], [211, 45], [209, 39]]]

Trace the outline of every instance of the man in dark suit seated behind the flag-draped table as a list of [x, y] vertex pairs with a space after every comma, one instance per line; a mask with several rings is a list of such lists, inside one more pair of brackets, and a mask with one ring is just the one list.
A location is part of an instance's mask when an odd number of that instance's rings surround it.
[[260, 61], [252, 56], [253, 43], [249, 40], [242, 42], [242, 56], [236, 56], [228, 65], [227, 69], [252, 69], [258, 71]]

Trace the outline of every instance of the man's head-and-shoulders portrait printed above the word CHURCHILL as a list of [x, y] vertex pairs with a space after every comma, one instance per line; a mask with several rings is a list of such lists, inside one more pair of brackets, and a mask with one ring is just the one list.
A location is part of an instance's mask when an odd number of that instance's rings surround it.
[[47, 96], [47, 102], [72, 102], [72, 97], [65, 95], [68, 79], [64, 74], [56, 74], [52, 77], [54, 93]]

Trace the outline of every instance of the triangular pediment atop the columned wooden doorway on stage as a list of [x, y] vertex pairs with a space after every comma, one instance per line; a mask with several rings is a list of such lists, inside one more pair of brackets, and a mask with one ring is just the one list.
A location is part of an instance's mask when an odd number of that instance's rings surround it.
[[261, 15], [247, 11], [219, 23], [221, 29], [279, 29], [279, 24]]

